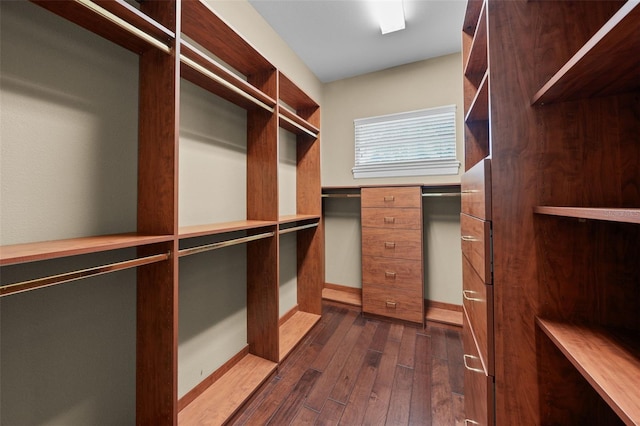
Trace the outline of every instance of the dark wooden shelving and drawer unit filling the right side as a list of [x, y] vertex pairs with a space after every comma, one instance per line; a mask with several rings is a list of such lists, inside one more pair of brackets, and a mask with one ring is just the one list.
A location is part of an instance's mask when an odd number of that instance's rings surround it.
[[495, 361], [495, 386], [470, 365], [466, 415], [638, 424], [640, 2], [480, 3], [462, 32], [474, 57], [486, 19], [486, 78], [464, 82], [463, 227], [489, 221], [490, 262], [469, 261], [493, 285], [466, 265], [465, 353]]

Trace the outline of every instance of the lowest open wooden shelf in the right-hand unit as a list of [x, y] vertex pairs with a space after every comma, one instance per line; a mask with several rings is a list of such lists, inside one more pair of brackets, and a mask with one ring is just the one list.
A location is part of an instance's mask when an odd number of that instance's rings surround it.
[[540, 328], [626, 424], [640, 423], [636, 334], [537, 319]]

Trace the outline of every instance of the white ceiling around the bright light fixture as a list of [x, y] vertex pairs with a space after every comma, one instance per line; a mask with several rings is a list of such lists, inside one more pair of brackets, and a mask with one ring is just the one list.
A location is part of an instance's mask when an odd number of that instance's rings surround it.
[[466, 0], [403, 0], [406, 28], [385, 35], [372, 1], [249, 0], [325, 83], [461, 50]]

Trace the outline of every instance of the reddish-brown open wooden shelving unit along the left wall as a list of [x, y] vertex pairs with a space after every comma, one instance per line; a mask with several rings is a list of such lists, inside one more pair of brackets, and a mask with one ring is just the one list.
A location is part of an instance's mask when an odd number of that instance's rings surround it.
[[[0, 247], [0, 265], [136, 249], [124, 265], [107, 265], [114, 270], [137, 268], [135, 422], [223, 423], [320, 319], [320, 106], [204, 1], [149, 0], [137, 6], [124, 0], [33, 3], [139, 55], [137, 229], [5, 245]], [[178, 226], [182, 79], [246, 110], [246, 217], [220, 222], [213, 217], [212, 223]], [[293, 216], [279, 214], [279, 127], [297, 139]], [[280, 326], [278, 234], [286, 232], [297, 236], [299, 311]], [[179, 258], [235, 244], [246, 245], [247, 253], [247, 346], [180, 403]], [[83, 271], [78, 272], [74, 279], [83, 277]], [[0, 296], [17, 292], [12, 285], [3, 283]]]

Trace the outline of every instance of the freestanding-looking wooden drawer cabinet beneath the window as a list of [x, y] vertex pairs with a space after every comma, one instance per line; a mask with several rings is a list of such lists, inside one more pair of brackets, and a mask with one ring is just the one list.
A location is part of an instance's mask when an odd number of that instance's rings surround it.
[[362, 310], [424, 322], [421, 187], [363, 188]]

